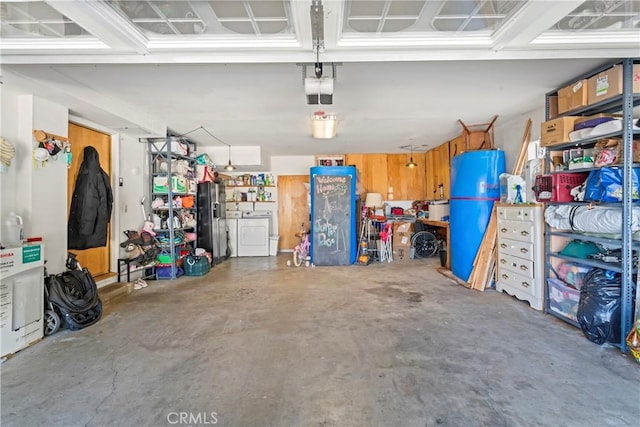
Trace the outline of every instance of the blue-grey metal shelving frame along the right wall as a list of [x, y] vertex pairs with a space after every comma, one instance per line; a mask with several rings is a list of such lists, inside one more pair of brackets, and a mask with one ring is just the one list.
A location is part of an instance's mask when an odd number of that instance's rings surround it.
[[[606, 205], [615, 205], [619, 206], [622, 210], [622, 229], [620, 230], [620, 239], [611, 239], [611, 238], [602, 238], [590, 236], [588, 234], [576, 234], [567, 231], [555, 231], [548, 229], [545, 234], [545, 269], [546, 269], [546, 278], [553, 277], [550, 276], [550, 273], [554, 273], [553, 265], [551, 263], [551, 258], [561, 258], [563, 260], [580, 263], [590, 267], [603, 268], [611, 271], [616, 271], [621, 273], [622, 275], [622, 287], [621, 287], [621, 316], [620, 316], [620, 327], [621, 327], [621, 338], [620, 342], [614, 343], [616, 346], [620, 347], [623, 352], [628, 350], [625, 338], [631, 329], [631, 326], [634, 322], [634, 307], [633, 307], [633, 274], [636, 272], [636, 269], [633, 268], [632, 259], [633, 259], [633, 251], [638, 252], [640, 250], [640, 243], [633, 241], [633, 233], [631, 230], [631, 221], [632, 221], [632, 207], [634, 205], [637, 206], [637, 203], [634, 203], [632, 200], [632, 169], [634, 165], [632, 163], [632, 153], [633, 153], [633, 137], [634, 135], [640, 135], [640, 131], [633, 130], [633, 107], [640, 105], [640, 94], [632, 93], [632, 72], [633, 72], [633, 64], [634, 62], [640, 62], [639, 58], [627, 58], [623, 59], [606, 66], [603, 66], [599, 69], [593, 70], [590, 73], [585, 74], [584, 76], [577, 77], [573, 79], [573, 81], [585, 79], [592, 77], [599, 72], [605, 71], [608, 68], [614, 65], [622, 65], [622, 79], [623, 79], [623, 93], [621, 95], [612, 97], [610, 99], [598, 102], [596, 104], [592, 104], [586, 107], [581, 107], [578, 109], [574, 109], [572, 111], [565, 112], [563, 114], [557, 115], [557, 117], [562, 116], [576, 116], [576, 115], [590, 115], [596, 113], [619, 113], [622, 111], [622, 130], [617, 132], [608, 133], [606, 135], [600, 135], [598, 137], [592, 137], [583, 139], [580, 141], [567, 142], [564, 144], [553, 145], [552, 147], [548, 147], [547, 156], [546, 156], [546, 167], [547, 170], [550, 170], [551, 159], [549, 152], [550, 151], [558, 151], [562, 149], [568, 149], [572, 147], [583, 147], [588, 148], [595, 145], [595, 143], [604, 138], [621, 138], [623, 143], [623, 162], [620, 165], [615, 165], [615, 167], [619, 167], [623, 171], [623, 191], [622, 191], [622, 201], [620, 203], [607, 203]], [[561, 87], [567, 86], [572, 82], [567, 82], [565, 85]], [[545, 107], [546, 107], [546, 120], [551, 120], [556, 117], [551, 117], [550, 115], [550, 100], [552, 96], [557, 95], [557, 91], [552, 91], [546, 94], [545, 96]], [[597, 168], [583, 168], [583, 169], [574, 169], [568, 171], [562, 171], [562, 173], [578, 173], [578, 172], [588, 172], [591, 170], [596, 170]], [[587, 205], [589, 202], [570, 202], [570, 203], [548, 203], [548, 204], [571, 204], [571, 205]], [[604, 205], [604, 204], [598, 204]], [[551, 250], [551, 239], [553, 237], [559, 238], [567, 238], [567, 239], [578, 239], [578, 240], [587, 240], [597, 243], [604, 243], [609, 246], [617, 246], [622, 251], [622, 262], [618, 264], [613, 263], [605, 263], [598, 260], [590, 260], [590, 259], [582, 259], [582, 258], [573, 258], [561, 255], [557, 252]], [[554, 273], [555, 274], [555, 273]], [[546, 280], [545, 280], [546, 282]], [[571, 319], [562, 316], [559, 313], [555, 313], [550, 310], [550, 301], [549, 301], [549, 287], [547, 283], [545, 283], [545, 308], [548, 314], [551, 314], [559, 319], [564, 320], [565, 322], [573, 325], [579, 326], [576, 322]], [[636, 303], [637, 304], [637, 303]], [[637, 311], [637, 309], [636, 309]], [[636, 314], [637, 315], [637, 314]]]

